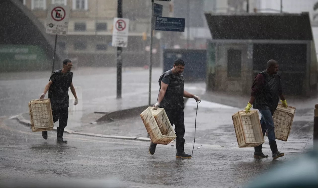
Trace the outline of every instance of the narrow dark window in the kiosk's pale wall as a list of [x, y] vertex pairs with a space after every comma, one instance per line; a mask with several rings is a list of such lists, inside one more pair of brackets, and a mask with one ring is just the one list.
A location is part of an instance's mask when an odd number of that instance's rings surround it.
[[241, 50], [227, 50], [227, 77], [241, 77]]

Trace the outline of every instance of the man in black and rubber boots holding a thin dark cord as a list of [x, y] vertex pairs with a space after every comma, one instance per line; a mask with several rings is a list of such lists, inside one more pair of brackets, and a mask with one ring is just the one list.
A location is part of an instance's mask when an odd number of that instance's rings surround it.
[[[171, 70], [163, 73], [159, 78], [160, 91], [155, 108], [163, 108], [169, 118], [170, 124], [175, 124], [176, 132], [176, 158], [191, 158], [191, 155], [184, 152], [184, 103], [183, 97], [194, 98], [200, 101], [196, 95], [184, 91], [184, 79], [181, 73], [184, 69], [184, 62], [177, 59]], [[149, 153], [153, 155], [156, 151], [156, 145], [150, 142]]]

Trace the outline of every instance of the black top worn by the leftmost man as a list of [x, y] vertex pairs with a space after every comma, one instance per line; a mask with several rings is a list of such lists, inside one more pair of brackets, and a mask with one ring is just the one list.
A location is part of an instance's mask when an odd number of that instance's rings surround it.
[[50, 77], [53, 82], [49, 88], [49, 98], [53, 106], [68, 107], [68, 88], [71, 86], [73, 72], [63, 74], [62, 70], [56, 70]]

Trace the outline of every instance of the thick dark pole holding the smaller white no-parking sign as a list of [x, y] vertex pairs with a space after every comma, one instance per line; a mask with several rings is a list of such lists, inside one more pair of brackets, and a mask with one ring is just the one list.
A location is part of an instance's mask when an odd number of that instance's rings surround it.
[[[122, 18], [122, 0], [117, 0], [117, 17]], [[117, 47], [117, 98], [121, 98], [122, 47]]]

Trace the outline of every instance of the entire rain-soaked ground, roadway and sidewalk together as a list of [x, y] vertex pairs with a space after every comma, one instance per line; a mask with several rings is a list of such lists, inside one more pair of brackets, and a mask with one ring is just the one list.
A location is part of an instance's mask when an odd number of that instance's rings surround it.
[[[153, 70], [152, 103], [156, 102], [161, 71]], [[38, 187], [61, 187], [58, 183], [74, 187], [244, 187], [258, 175], [302, 156], [312, 147], [315, 99], [288, 98], [288, 104], [297, 110], [288, 141], [277, 141], [285, 156], [272, 160], [265, 137], [263, 152], [270, 157], [256, 160], [254, 148], [238, 147], [231, 119], [233, 113], [244, 108], [246, 97], [217, 96], [205, 92], [201, 82], [185, 84], [185, 90], [202, 99], [197, 121], [194, 99], [186, 101], [184, 109], [186, 153], [192, 152], [196, 128], [193, 158], [176, 159], [174, 141], [158, 145], [152, 156], [148, 153], [147, 131], [138, 114], [92, 123], [104, 112], [147, 105], [145, 77], [149, 70], [123, 71], [122, 99], [116, 99], [114, 68], [73, 72], [73, 84], [82, 89], [82, 99], [76, 107], [81, 105], [82, 109], [69, 111], [65, 145], [56, 144], [56, 131], [49, 131], [44, 140], [41, 132], [32, 132], [15, 116], [23, 113], [21, 117], [30, 121], [27, 103], [43, 92], [50, 72], [1, 74], [0, 183], [13, 181], [13, 187], [27, 184], [19, 181], [33, 182]]]

